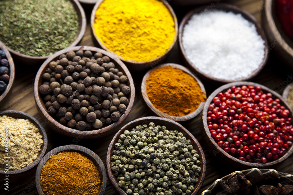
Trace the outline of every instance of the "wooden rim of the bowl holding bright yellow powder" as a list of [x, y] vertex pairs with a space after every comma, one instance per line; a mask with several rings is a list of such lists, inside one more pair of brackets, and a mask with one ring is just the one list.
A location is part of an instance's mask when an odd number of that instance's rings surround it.
[[164, 52], [163, 55], [153, 59], [153, 60], [150, 60], [150, 61], [135, 61], [135, 60], [131, 60], [131, 59], [125, 59], [123, 58], [122, 56], [118, 56], [117, 54], [115, 54], [113, 51], [110, 51], [100, 40], [100, 38], [97, 36], [97, 34], [95, 33], [95, 16], [96, 16], [96, 11], [97, 9], [99, 8], [100, 4], [103, 3], [103, 1], [105, 0], [98, 0], [95, 4], [95, 6], [93, 7], [93, 11], [91, 13], [91, 32], [94, 36], [94, 38], [96, 39], [96, 41], [98, 42], [99, 46], [106, 50], [107, 52], [111, 53], [111, 54], [114, 54], [115, 56], [117, 56], [117, 58], [119, 58], [121, 61], [123, 62], [126, 62], [126, 63], [132, 63], [132, 64], [140, 64], [140, 65], [147, 65], [149, 63], [154, 63], [154, 64], [157, 64], [156, 62], [157, 61], [160, 61], [161, 58], [163, 58], [164, 56], [166, 56], [170, 51], [171, 49], [173, 49], [174, 45], [176, 44], [177, 42], [177, 37], [178, 37], [178, 20], [177, 20], [177, 17], [176, 17], [176, 14], [175, 12], [173, 11], [173, 8], [170, 6], [170, 4], [168, 4], [168, 2], [166, 0], [158, 0], [158, 1], [161, 1], [163, 2], [164, 6], [168, 9], [168, 11], [170, 12], [173, 20], [174, 20], [174, 24], [175, 24], [175, 34], [174, 34], [174, 39], [173, 39], [173, 42], [171, 43], [171, 45], [169, 46], [169, 48]]

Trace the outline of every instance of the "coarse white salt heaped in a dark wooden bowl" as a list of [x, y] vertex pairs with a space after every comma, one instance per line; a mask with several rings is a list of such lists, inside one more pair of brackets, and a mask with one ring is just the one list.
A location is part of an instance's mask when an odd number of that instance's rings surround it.
[[184, 26], [182, 43], [200, 72], [224, 80], [247, 77], [265, 56], [265, 41], [255, 25], [233, 12], [194, 14]]

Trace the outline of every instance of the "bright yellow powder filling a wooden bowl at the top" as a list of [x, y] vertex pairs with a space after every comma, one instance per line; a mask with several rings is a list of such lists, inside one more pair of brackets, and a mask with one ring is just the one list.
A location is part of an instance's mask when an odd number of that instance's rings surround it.
[[155, 60], [175, 38], [172, 15], [158, 0], [105, 0], [94, 27], [100, 41], [125, 60]]

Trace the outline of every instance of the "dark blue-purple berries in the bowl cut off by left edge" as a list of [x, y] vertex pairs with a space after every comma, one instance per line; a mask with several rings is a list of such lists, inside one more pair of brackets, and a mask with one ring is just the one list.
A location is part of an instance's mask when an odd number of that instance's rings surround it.
[[6, 58], [6, 54], [0, 49], [0, 95], [7, 88], [10, 79], [9, 72], [9, 62]]

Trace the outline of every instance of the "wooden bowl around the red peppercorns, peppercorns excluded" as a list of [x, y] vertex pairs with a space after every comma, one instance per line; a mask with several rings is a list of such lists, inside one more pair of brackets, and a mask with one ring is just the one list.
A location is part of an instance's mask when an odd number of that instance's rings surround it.
[[218, 144], [216, 143], [216, 141], [213, 139], [211, 133], [209, 132], [209, 128], [207, 125], [207, 111], [208, 111], [208, 107], [209, 105], [212, 103], [212, 100], [214, 99], [215, 96], [217, 96], [220, 92], [225, 92], [228, 88], [236, 86], [236, 87], [240, 87], [243, 85], [251, 85], [254, 87], [261, 87], [262, 91], [264, 93], [271, 93], [273, 95], [273, 98], [278, 98], [281, 100], [281, 105], [285, 106], [286, 109], [288, 109], [290, 111], [289, 116], [291, 118], [293, 118], [293, 111], [292, 108], [289, 106], [289, 104], [287, 103], [287, 101], [285, 101], [285, 99], [278, 93], [276, 93], [275, 91], [273, 91], [272, 89], [269, 89], [268, 87], [265, 87], [261, 84], [258, 83], [253, 83], [253, 82], [234, 82], [234, 83], [229, 83], [229, 84], [225, 84], [221, 87], [219, 87], [218, 89], [216, 89], [207, 99], [206, 103], [205, 103], [205, 107], [202, 111], [202, 136], [205, 140], [205, 142], [207, 143], [207, 146], [209, 147], [210, 151], [212, 151], [214, 154], [217, 153], [217, 159], [220, 159], [221, 161], [225, 162], [226, 164], [232, 165], [234, 167], [243, 167], [243, 168], [251, 168], [251, 167], [255, 167], [255, 168], [264, 168], [264, 167], [270, 167], [272, 165], [276, 165], [278, 163], [281, 163], [282, 161], [284, 161], [285, 159], [287, 159], [292, 153], [293, 153], [293, 145], [288, 149], [288, 151], [284, 154], [284, 156], [282, 156], [281, 158], [272, 161], [272, 162], [268, 162], [268, 163], [248, 163], [245, 161], [241, 161], [231, 155], [229, 155], [228, 153], [226, 153], [222, 148], [220, 148], [218, 146]]

